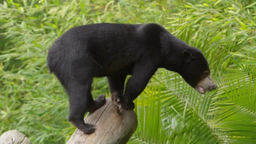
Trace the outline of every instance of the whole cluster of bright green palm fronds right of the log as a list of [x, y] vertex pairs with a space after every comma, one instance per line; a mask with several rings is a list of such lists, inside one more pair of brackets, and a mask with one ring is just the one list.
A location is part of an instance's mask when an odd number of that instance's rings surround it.
[[140, 123], [135, 133], [137, 140], [159, 143], [157, 138], [164, 136], [164, 143], [254, 142], [255, 79], [243, 70], [227, 71], [228, 74], [222, 75], [219, 90], [204, 95], [190, 88], [174, 72], [164, 69], [156, 72], [157, 80], [149, 83], [136, 100]]

